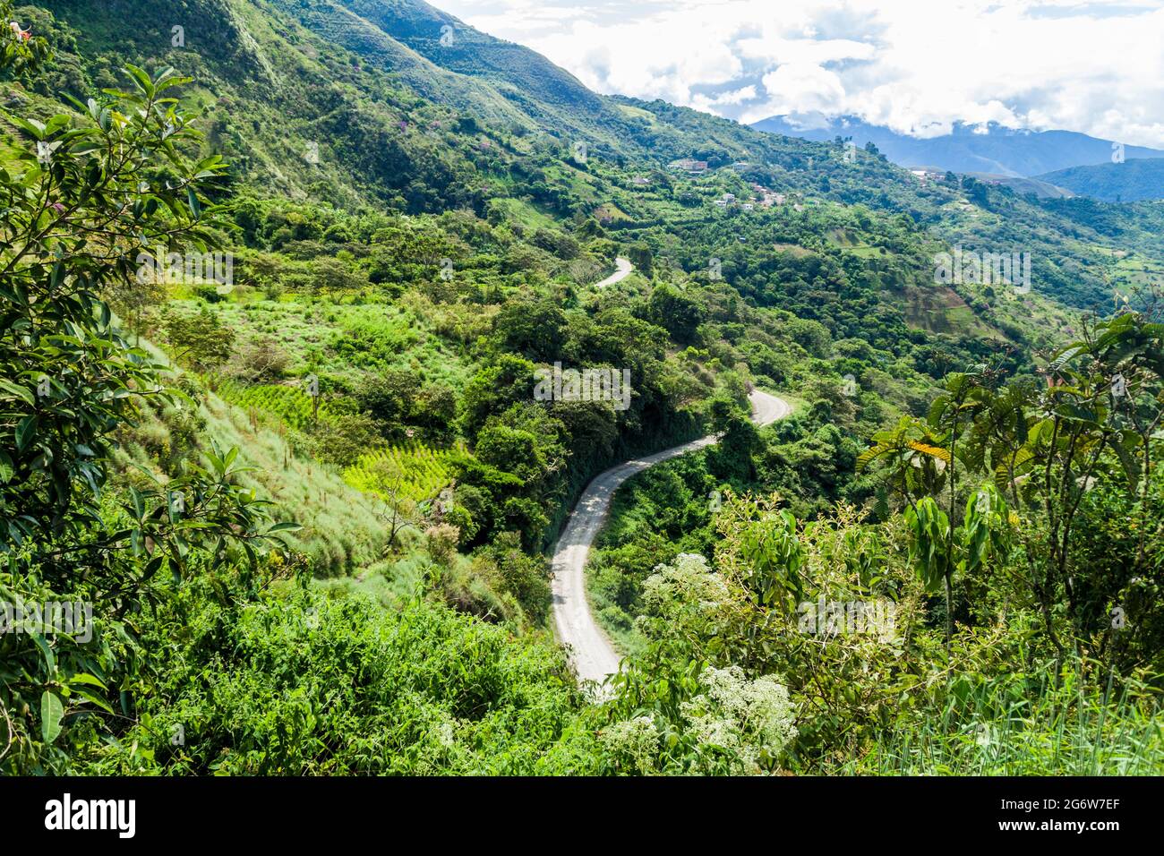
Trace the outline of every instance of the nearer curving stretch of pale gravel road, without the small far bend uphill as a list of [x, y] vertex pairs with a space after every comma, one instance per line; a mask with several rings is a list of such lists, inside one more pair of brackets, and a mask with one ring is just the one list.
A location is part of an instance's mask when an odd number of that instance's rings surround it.
[[[767, 425], [792, 412], [788, 402], [760, 390], [752, 391], [748, 399], [752, 403], [752, 420], [757, 425]], [[585, 590], [585, 561], [590, 544], [606, 519], [615, 491], [636, 473], [660, 461], [710, 446], [715, 441], [715, 437], [703, 437], [599, 473], [587, 486], [570, 512], [566, 529], [554, 547], [554, 627], [558, 641], [569, 649], [570, 664], [579, 680], [601, 684], [606, 675], [618, 671], [618, 653], [595, 622]]]

